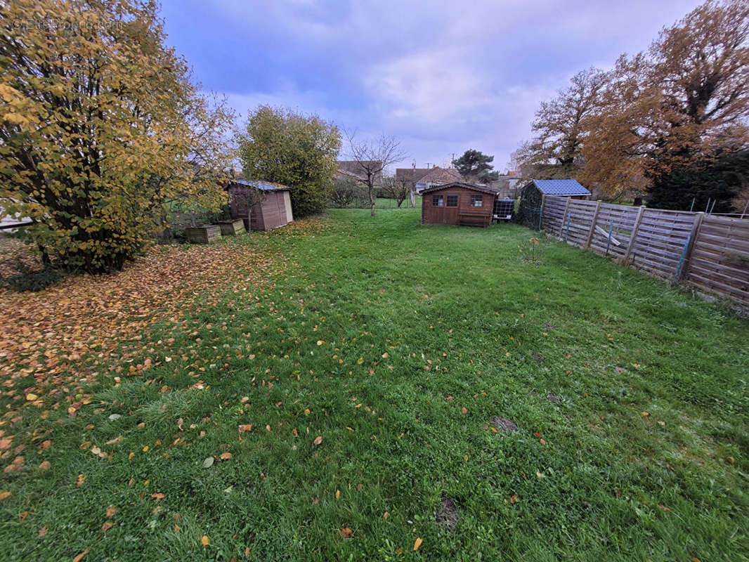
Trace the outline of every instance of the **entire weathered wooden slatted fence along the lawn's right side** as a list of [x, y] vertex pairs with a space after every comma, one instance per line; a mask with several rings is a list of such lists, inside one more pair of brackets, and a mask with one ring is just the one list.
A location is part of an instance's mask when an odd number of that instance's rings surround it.
[[568, 244], [749, 306], [749, 217], [547, 196], [541, 222]]

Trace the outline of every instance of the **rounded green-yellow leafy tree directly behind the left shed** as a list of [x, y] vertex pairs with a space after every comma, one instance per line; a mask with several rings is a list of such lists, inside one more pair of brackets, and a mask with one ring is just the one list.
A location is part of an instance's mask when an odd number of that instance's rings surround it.
[[336, 157], [341, 148], [336, 125], [318, 115], [258, 106], [249, 114], [237, 141], [249, 177], [293, 188], [294, 217], [306, 217], [325, 208], [333, 193]]

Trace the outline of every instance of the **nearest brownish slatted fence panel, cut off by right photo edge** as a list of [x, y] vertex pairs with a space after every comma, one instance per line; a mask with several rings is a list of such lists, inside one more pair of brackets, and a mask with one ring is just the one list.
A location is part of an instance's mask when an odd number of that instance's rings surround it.
[[749, 220], [703, 217], [685, 282], [698, 291], [749, 303]]

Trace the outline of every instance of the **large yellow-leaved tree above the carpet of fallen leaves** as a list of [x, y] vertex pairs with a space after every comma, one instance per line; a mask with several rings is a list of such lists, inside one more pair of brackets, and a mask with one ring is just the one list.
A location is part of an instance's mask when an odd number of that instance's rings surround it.
[[0, 213], [46, 262], [118, 270], [169, 202], [225, 201], [233, 115], [164, 40], [154, 1], [0, 3]]

